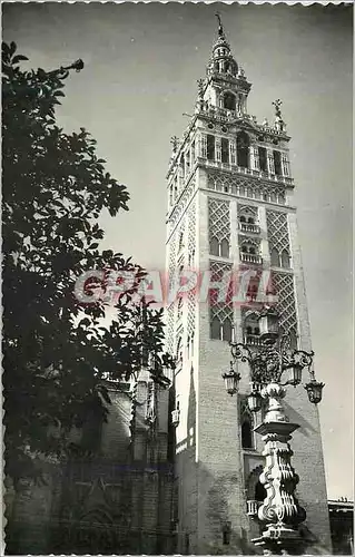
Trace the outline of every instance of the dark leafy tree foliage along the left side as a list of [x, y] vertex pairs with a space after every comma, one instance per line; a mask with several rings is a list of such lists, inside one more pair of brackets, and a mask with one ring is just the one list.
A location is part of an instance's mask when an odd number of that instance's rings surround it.
[[[62, 450], [51, 444], [49, 423], [66, 432], [85, 421], [89, 408], [103, 412], [103, 377], [129, 379], [147, 353], [157, 381], [164, 382], [165, 365], [174, 365], [164, 353], [161, 312], [131, 303], [144, 270], [121, 253], [99, 250], [100, 212], [127, 211], [129, 194], [105, 170], [88, 131], [68, 135], [56, 121], [69, 69], [26, 71], [24, 60], [13, 42], [3, 45], [3, 388], [13, 476], [28, 448]], [[73, 295], [88, 270], [137, 276], [107, 328], [99, 326], [103, 301], [81, 306]]]

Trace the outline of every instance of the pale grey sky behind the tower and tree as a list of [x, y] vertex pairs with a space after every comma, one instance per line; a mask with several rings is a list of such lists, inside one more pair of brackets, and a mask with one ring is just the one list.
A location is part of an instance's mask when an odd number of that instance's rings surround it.
[[[353, 499], [352, 99], [349, 6], [233, 3], [2, 4], [3, 40], [53, 69], [78, 58], [58, 120], [88, 129], [130, 211], [102, 215], [102, 247], [165, 267], [170, 137], [194, 111], [218, 10], [253, 87], [248, 113], [272, 120], [283, 100], [292, 136], [299, 240], [317, 378], [328, 497]], [[185, 115], [184, 115], [185, 114]]]

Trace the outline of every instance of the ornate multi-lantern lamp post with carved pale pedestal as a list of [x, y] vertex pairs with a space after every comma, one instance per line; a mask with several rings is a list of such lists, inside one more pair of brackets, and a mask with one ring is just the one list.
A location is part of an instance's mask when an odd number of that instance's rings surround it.
[[258, 517], [266, 524], [266, 529], [253, 543], [268, 554], [297, 554], [303, 548], [298, 525], [305, 520], [306, 512], [294, 495], [298, 476], [290, 463], [293, 451], [288, 441], [299, 426], [288, 421], [282, 400], [286, 395], [286, 385], [296, 387], [302, 382], [304, 368], [308, 368], [310, 379], [305, 389], [314, 404], [322, 400], [324, 383], [316, 381], [312, 369], [314, 352], [293, 349], [290, 336], [279, 334], [278, 321], [278, 313], [274, 309], [265, 307], [260, 312], [262, 345], [252, 351], [246, 344], [231, 343], [233, 362], [223, 378], [227, 392], [235, 394], [240, 374], [234, 365], [238, 360], [247, 362], [252, 382], [249, 409], [257, 412], [263, 399], [267, 401], [265, 419], [255, 428], [265, 442], [263, 456], [266, 461], [259, 481], [265, 487], [266, 498], [258, 509]]

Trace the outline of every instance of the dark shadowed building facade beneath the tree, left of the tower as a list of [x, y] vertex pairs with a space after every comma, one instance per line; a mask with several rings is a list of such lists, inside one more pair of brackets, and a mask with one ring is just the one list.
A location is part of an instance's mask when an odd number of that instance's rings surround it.
[[16, 489], [7, 478], [7, 555], [174, 554], [172, 392], [145, 370], [106, 387], [107, 422], [72, 430], [68, 461], [40, 459], [40, 481]]

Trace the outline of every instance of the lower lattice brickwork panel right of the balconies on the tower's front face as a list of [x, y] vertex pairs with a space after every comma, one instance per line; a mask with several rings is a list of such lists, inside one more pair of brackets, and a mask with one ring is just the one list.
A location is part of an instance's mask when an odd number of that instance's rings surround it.
[[297, 313], [295, 302], [294, 276], [286, 273], [272, 272], [274, 294], [278, 296], [276, 309], [280, 316], [280, 328], [285, 333], [294, 330], [297, 333]]

